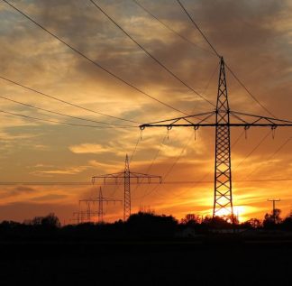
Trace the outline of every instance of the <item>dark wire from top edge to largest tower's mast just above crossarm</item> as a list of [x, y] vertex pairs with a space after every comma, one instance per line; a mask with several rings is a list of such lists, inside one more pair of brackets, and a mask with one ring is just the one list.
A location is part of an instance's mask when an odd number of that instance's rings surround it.
[[99, 5], [96, 4], [96, 2], [94, 0], [89, 0], [93, 5], [96, 6], [96, 8], [102, 12], [103, 14], [105, 14], [105, 16], [112, 22], [114, 23], [114, 25], [116, 27], [118, 27], [129, 39], [132, 40], [132, 42], [134, 42], [142, 51], [144, 51], [147, 55], [149, 55], [151, 57], [152, 60], [154, 60], [155, 62], [157, 62], [160, 67], [162, 67], [163, 69], [165, 69], [167, 72], [169, 72], [169, 74], [178, 79], [178, 81], [183, 84], [185, 87], [187, 87], [189, 90], [193, 91], [198, 97], [201, 97], [202, 99], [204, 99], [206, 102], [208, 102], [210, 105], [214, 106], [214, 104], [209, 101], [208, 99], [206, 99], [204, 96], [202, 96], [200, 93], [198, 93], [194, 88], [191, 88], [189, 85], [187, 85], [187, 83], [182, 80], [181, 78], [178, 78], [178, 76], [173, 72], [171, 71], [167, 66], [165, 66], [160, 60], [158, 60], [156, 57], [154, 57], [151, 52], [147, 51], [139, 42], [137, 42], [135, 39], [132, 38], [132, 36], [126, 32], [123, 27], [119, 24], [119, 23], [116, 23], [114, 21], [114, 19], [109, 15], [109, 14], [106, 14], [105, 13], [105, 10], [103, 10]]

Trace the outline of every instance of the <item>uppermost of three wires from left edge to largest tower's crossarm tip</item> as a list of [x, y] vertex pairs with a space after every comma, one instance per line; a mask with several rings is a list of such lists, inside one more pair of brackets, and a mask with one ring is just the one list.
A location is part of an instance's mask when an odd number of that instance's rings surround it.
[[114, 116], [114, 115], [106, 115], [105, 113], [101, 113], [99, 111], [92, 110], [92, 109], [89, 109], [89, 108], [84, 107], [84, 106], [79, 106], [77, 104], [73, 104], [73, 103], [68, 102], [66, 100], [60, 99], [59, 97], [50, 96], [50, 95], [48, 95], [48, 94], [46, 94], [44, 92], [41, 92], [40, 90], [37, 90], [37, 89], [34, 89], [34, 88], [29, 88], [29, 87], [24, 86], [23, 84], [21, 84], [19, 82], [16, 82], [16, 81], [14, 81], [12, 79], [9, 79], [9, 78], [5, 78], [5, 77], [2, 77], [2, 76], [0, 76], [0, 78], [4, 79], [5, 81], [8, 81], [10, 83], [13, 83], [14, 85], [16, 85], [18, 87], [21, 87], [21, 88], [25, 88], [27, 90], [30, 90], [30, 91], [32, 91], [32, 92], [34, 92], [36, 94], [39, 94], [39, 95], [41, 95], [43, 97], [49, 97], [49, 98], [54, 99], [56, 101], [59, 101], [61, 103], [67, 104], [68, 106], [78, 107], [80, 109], [86, 110], [86, 111], [91, 112], [91, 113], [95, 113], [97, 115], [103, 115], [103, 116], [107, 116], [107, 117], [110, 117], [110, 118], [114, 118], [114, 119], [118, 119], [118, 120], [122, 120], [122, 121], [126, 121], [126, 122], [131, 122], [131, 123], [139, 124], [139, 122], [136, 122], [136, 121], [133, 121], [133, 120], [125, 119], [125, 118], [122, 118], [122, 117], [117, 117], [117, 116]]

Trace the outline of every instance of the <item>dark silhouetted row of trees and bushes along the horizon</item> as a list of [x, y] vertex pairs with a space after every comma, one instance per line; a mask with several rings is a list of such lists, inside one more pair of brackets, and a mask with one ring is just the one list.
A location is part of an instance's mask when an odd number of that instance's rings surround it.
[[45, 237], [76, 237], [76, 238], [138, 238], [138, 237], [174, 237], [181, 232], [192, 230], [194, 234], [208, 234], [216, 229], [262, 229], [292, 231], [292, 214], [280, 217], [280, 209], [267, 213], [262, 220], [251, 218], [239, 223], [236, 217], [201, 217], [187, 214], [178, 221], [175, 217], [156, 215], [152, 211], [132, 214], [127, 221], [114, 223], [82, 223], [61, 226], [59, 217], [50, 213], [45, 217], [33, 217], [23, 223], [3, 221], [0, 223], [1, 238], [45, 238]]

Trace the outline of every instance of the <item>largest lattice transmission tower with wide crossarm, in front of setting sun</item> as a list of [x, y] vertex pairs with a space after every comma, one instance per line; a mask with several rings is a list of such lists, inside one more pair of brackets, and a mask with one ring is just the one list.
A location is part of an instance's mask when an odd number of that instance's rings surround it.
[[[203, 118], [197, 119], [198, 116], [203, 116]], [[233, 123], [231, 123], [231, 117], [235, 120]], [[214, 122], [210, 123], [211, 119]], [[196, 133], [199, 127], [215, 127], [213, 217], [228, 214], [233, 218], [230, 127], [241, 126], [245, 131], [251, 126], [269, 126], [274, 136], [278, 126], [292, 126], [292, 121], [232, 111], [228, 103], [224, 58], [221, 57], [217, 104], [214, 111], [144, 124], [140, 125], [140, 128], [142, 131], [146, 127], [167, 127], [168, 130], [172, 127], [193, 127]]]

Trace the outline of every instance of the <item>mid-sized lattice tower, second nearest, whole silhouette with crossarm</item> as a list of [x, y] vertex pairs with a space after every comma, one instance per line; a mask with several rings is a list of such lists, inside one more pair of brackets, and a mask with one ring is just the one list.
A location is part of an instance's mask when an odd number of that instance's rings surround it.
[[[131, 185], [133, 183], [142, 184], [144, 179], [147, 179], [146, 183], [161, 183], [161, 176], [149, 175], [143, 173], [137, 173], [130, 171], [130, 164], [128, 155], [126, 155], [124, 162], [124, 171], [112, 174], [105, 174], [92, 177], [93, 183], [97, 179], [104, 179], [104, 184], [118, 185], [123, 181], [123, 221], [126, 221], [131, 216]], [[152, 181], [158, 180], [158, 181]]]

